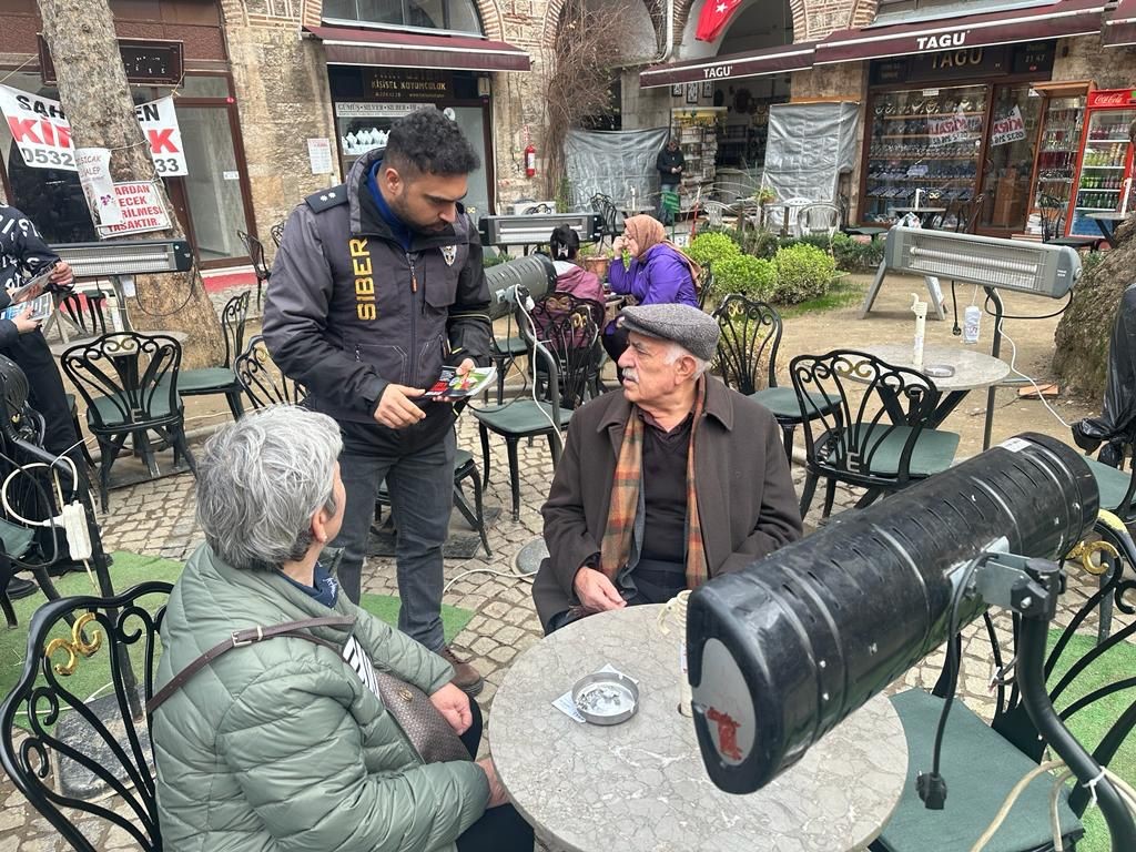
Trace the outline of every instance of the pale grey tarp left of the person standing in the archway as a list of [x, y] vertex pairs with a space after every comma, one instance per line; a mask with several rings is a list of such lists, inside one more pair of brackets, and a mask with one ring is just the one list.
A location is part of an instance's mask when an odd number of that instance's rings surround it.
[[645, 131], [568, 131], [565, 141], [565, 166], [571, 203], [586, 208], [598, 192], [611, 198], [616, 206], [635, 203], [657, 207], [659, 173], [654, 160], [667, 144], [669, 131], [655, 127]]

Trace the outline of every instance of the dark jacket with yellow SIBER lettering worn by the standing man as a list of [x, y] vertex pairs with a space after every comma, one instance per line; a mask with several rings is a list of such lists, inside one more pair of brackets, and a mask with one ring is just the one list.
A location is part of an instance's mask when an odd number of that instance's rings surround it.
[[[264, 316], [273, 360], [316, 410], [379, 428], [387, 384], [426, 389], [463, 358], [485, 366], [493, 334], [477, 228], [459, 204], [452, 227], [416, 233], [404, 251], [367, 187], [383, 153], [292, 211]], [[423, 404], [428, 415], [451, 408]]]

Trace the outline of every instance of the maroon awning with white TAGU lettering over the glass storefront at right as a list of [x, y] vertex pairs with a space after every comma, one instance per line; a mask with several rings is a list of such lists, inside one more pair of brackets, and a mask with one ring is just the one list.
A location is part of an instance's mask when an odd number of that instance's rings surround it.
[[1058, 0], [1029, 9], [1008, 9], [921, 24], [840, 30], [817, 44], [817, 65], [932, 53], [959, 48], [1012, 44], [1101, 32], [1104, 0]]

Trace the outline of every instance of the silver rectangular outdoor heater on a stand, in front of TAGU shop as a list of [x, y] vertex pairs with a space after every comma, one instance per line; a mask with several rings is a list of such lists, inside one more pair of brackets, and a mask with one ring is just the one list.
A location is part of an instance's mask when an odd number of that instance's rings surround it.
[[[949, 231], [893, 227], [887, 232], [887, 247], [879, 264], [876, 279], [864, 296], [860, 309], [863, 319], [879, 293], [887, 272], [921, 275], [932, 293], [936, 316], [943, 319], [939, 278], [966, 284], [978, 284], [994, 302], [994, 335], [991, 354], [1002, 350], [1002, 319], [1004, 306], [999, 290], [1033, 293], [1050, 299], [1061, 299], [1080, 277], [1080, 256], [1075, 249], [1052, 243], [1021, 240], [1000, 240], [975, 234], [955, 234]], [[994, 424], [994, 391], [986, 395], [986, 426], [983, 449], [991, 445]]]

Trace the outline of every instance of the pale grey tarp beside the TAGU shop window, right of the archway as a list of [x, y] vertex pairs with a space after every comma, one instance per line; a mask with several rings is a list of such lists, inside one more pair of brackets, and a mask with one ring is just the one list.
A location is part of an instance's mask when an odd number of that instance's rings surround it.
[[855, 166], [859, 105], [774, 103], [761, 184], [777, 200], [835, 201], [837, 183]]

